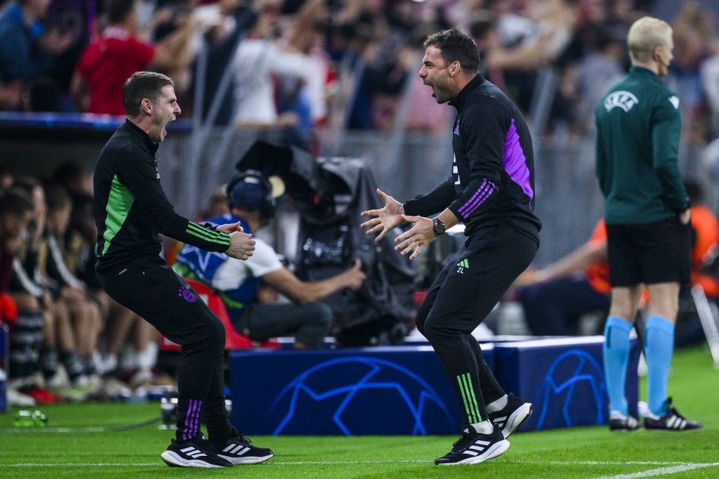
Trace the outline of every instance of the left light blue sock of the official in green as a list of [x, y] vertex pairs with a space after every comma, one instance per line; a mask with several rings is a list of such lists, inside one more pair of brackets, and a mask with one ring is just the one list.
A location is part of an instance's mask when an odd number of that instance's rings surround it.
[[604, 377], [609, 394], [609, 410], [619, 411], [626, 416], [628, 406], [624, 395], [624, 384], [629, 365], [629, 332], [632, 324], [617, 316], [608, 316], [604, 327]]

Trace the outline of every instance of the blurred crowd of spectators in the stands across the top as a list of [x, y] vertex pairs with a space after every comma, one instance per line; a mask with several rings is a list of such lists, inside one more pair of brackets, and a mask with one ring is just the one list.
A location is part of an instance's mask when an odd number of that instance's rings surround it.
[[[354, 81], [343, 113], [349, 128], [391, 128], [406, 84], [420, 82], [423, 38], [452, 26], [471, 32], [485, 76], [525, 112], [538, 78], [554, 71], [545, 134], [587, 134], [597, 99], [628, 66], [629, 25], [669, 9], [677, 60], [667, 85], [681, 99], [685, 140], [705, 144], [719, 129], [717, 16], [697, 1], [14, 0], [0, 6], [1, 110], [122, 115], [122, 82], [151, 69], [175, 78], [186, 117], [193, 106], [207, 114], [228, 70], [216, 124], [288, 128], [303, 139], [326, 125], [330, 106], [337, 106], [333, 97], [346, 93], [339, 91], [343, 72]], [[206, 65], [200, 78], [198, 63]], [[202, 105], [194, 105], [197, 86]], [[423, 101], [422, 88], [411, 91], [407, 127], [444, 132], [446, 109]]]

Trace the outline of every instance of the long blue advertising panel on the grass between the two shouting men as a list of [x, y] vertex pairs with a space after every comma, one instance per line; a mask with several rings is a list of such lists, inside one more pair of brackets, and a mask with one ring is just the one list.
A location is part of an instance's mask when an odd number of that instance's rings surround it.
[[[492, 345], [483, 345], [491, 364]], [[456, 434], [430, 346], [230, 352], [232, 422], [247, 434]]]

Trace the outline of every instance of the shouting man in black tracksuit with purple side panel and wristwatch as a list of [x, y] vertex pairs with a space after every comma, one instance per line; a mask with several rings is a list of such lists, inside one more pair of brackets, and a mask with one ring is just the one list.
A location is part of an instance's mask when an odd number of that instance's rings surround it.
[[[464, 222], [467, 241], [439, 276], [417, 314], [417, 328], [439, 355], [467, 427], [438, 465], [482, 462], [509, 447], [506, 437], [531, 414], [531, 404], [506, 395], [482, 358], [472, 331], [498, 303], [539, 247], [533, 214], [533, 155], [517, 107], [477, 73], [479, 54], [458, 30], [431, 35], [419, 76], [438, 103], [457, 108], [452, 173], [426, 195], [400, 204], [380, 190], [383, 209], [362, 224], [377, 239], [414, 223], [395, 241], [416, 257], [446, 228]], [[437, 214], [434, 219], [426, 216]]]

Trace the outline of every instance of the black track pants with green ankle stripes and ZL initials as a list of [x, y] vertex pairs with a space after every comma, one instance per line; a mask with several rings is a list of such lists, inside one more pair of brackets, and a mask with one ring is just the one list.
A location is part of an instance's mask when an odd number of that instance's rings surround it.
[[432, 283], [417, 314], [459, 398], [467, 424], [487, 419], [485, 401], [504, 396], [472, 331], [484, 321], [537, 251], [513, 227], [485, 227], [467, 239]]

